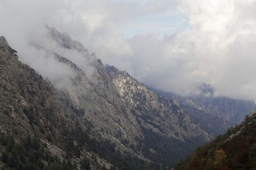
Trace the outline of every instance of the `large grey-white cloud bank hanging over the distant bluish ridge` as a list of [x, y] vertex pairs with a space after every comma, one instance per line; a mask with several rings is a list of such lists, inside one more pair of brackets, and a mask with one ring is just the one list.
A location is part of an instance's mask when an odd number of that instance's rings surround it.
[[129, 69], [146, 84], [181, 95], [197, 94], [206, 82], [215, 96], [255, 99], [255, 7], [255, 1], [179, 1], [190, 28], [154, 40], [130, 38]]

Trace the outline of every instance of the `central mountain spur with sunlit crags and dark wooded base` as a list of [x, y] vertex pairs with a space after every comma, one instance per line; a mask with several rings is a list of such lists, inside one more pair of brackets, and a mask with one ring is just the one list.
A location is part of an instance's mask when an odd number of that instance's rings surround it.
[[[142, 152], [149, 159], [161, 159], [164, 165], [191, 152], [212, 135], [183, 111], [178, 101], [159, 96], [127, 72], [107, 67], [122, 101], [139, 123], [144, 135]], [[177, 154], [178, 153], [178, 154]], [[181, 156], [182, 155], [182, 156]]]

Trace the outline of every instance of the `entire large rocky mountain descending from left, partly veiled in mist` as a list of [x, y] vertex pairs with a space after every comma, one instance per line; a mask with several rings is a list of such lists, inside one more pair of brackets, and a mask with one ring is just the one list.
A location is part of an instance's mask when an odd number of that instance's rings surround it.
[[154, 169], [213, 139], [178, 101], [47, 30], [55, 48], [33, 46], [65, 76], [41, 76], [0, 38], [1, 169]]

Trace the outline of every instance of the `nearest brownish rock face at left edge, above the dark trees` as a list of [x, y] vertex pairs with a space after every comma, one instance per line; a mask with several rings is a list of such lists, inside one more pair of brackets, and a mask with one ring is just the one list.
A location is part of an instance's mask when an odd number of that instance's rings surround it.
[[61, 118], [63, 109], [50, 82], [19, 62], [4, 37], [0, 49], [1, 130], [18, 137], [32, 133], [31, 125], [48, 127], [51, 116]]

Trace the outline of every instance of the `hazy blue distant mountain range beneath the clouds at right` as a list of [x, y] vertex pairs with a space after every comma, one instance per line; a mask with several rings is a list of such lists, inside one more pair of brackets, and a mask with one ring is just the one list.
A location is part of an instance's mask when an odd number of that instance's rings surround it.
[[[167, 98], [177, 99], [184, 108], [203, 111], [205, 115], [212, 115], [223, 121], [225, 128], [242, 123], [250, 111], [255, 110], [254, 101], [237, 100], [225, 96], [215, 96], [214, 89], [209, 84], [201, 84], [200, 94], [196, 96], [178, 96], [176, 94], [157, 91]], [[193, 111], [189, 112], [193, 113]]]

